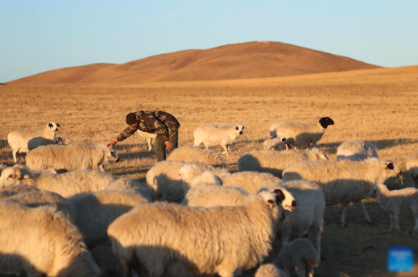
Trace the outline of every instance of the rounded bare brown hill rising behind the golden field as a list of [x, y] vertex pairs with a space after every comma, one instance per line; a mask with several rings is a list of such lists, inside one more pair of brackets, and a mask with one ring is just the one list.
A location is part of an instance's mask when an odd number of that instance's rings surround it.
[[125, 64], [90, 64], [39, 73], [15, 84], [139, 84], [249, 79], [378, 68], [362, 61], [274, 41], [184, 50]]

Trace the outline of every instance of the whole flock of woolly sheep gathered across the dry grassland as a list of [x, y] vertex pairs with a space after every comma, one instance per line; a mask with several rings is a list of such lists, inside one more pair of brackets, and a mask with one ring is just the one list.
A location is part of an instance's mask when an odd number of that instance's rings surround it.
[[[14, 161], [27, 155], [26, 166], [0, 165], [0, 276], [231, 277], [258, 266], [256, 277], [312, 277], [326, 207], [342, 204], [346, 227], [353, 202], [371, 224], [361, 200], [374, 191], [390, 230], [400, 230], [399, 213], [408, 207], [418, 231], [418, 189], [389, 191], [383, 183], [401, 169], [379, 159], [372, 144], [344, 142], [337, 162], [314, 148], [333, 124], [330, 117], [273, 122], [265, 149], [240, 157], [237, 173], [208, 146], [229, 155], [244, 126], [202, 125], [193, 146], [175, 149], [144, 182], [104, 172], [104, 164], [119, 161], [114, 149], [57, 137], [57, 122], [13, 131]], [[155, 135], [138, 135], [151, 150]], [[418, 187], [418, 151], [406, 166]], [[281, 251], [262, 265], [276, 238]]]

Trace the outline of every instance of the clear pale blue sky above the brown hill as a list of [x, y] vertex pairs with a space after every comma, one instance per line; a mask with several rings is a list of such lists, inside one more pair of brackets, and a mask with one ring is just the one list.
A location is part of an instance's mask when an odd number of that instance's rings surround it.
[[417, 65], [417, 12], [413, 0], [1, 0], [0, 82], [266, 40], [380, 66]]

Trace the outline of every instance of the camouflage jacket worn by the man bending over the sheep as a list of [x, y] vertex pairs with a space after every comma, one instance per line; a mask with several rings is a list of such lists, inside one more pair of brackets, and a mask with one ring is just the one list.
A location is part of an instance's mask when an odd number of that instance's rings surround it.
[[137, 130], [140, 130], [146, 133], [158, 134], [157, 137], [160, 137], [165, 142], [169, 140], [171, 133], [177, 132], [178, 128], [180, 128], [180, 123], [178, 123], [175, 117], [163, 111], [138, 111], [135, 114], [138, 126], [136, 128], [129, 126], [124, 129], [122, 133], [117, 135], [117, 140], [125, 140]]

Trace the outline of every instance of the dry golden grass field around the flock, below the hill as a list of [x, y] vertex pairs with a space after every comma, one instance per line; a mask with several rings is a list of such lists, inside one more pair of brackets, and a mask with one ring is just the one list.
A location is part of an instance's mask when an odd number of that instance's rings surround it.
[[[329, 126], [319, 149], [336, 160], [336, 147], [351, 139], [372, 142], [380, 157], [394, 160], [405, 170], [404, 161], [418, 149], [418, 66], [379, 68], [345, 73], [324, 73], [268, 79], [213, 82], [152, 83], [135, 86], [0, 86], [0, 162], [12, 164], [7, 134], [17, 129], [35, 130], [49, 121], [62, 128], [75, 142], [107, 143], [125, 128], [126, 113], [162, 110], [182, 124], [180, 146], [193, 144], [193, 130], [200, 124], [245, 126], [245, 133], [225, 157], [230, 171], [238, 158], [262, 148], [274, 120], [309, 122], [329, 116]], [[143, 180], [156, 163], [155, 153], [137, 135], [117, 144], [121, 162], [107, 166], [119, 177]], [[213, 147], [221, 151], [220, 146]], [[392, 189], [412, 186], [408, 173], [389, 180]], [[414, 245], [412, 213], [401, 216], [400, 233], [388, 232], [388, 215], [375, 198], [364, 200], [374, 225], [369, 226], [357, 207], [350, 207], [348, 227], [339, 223], [341, 207], [328, 207], [322, 240], [319, 277], [381, 276], [389, 245]], [[280, 242], [274, 244], [276, 255]], [[253, 276], [254, 271], [245, 271]]]

